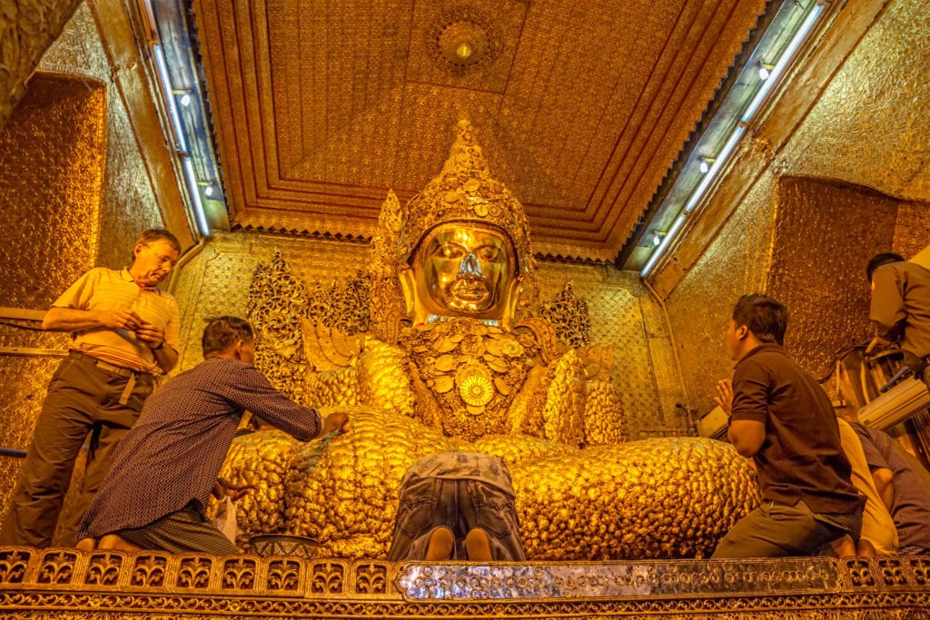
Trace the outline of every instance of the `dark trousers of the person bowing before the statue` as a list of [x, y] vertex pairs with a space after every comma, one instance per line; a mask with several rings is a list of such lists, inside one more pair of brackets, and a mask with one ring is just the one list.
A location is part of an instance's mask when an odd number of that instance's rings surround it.
[[496, 561], [524, 561], [513, 495], [473, 480], [411, 478], [401, 489], [388, 560], [422, 560], [430, 534], [439, 526], [452, 530], [452, 560], [468, 560], [465, 535], [481, 528]]

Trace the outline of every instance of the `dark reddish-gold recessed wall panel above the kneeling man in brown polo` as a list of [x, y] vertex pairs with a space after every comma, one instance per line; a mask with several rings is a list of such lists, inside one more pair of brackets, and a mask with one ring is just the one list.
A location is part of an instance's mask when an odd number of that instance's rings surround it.
[[865, 266], [892, 247], [897, 201], [814, 178], [780, 178], [776, 200], [768, 292], [788, 306], [790, 354], [825, 376], [836, 351], [871, 336]]

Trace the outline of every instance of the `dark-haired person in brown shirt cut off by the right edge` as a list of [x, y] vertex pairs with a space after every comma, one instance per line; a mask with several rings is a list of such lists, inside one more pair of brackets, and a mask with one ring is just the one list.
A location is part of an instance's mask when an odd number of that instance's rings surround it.
[[930, 385], [930, 270], [893, 252], [876, 254], [866, 267], [871, 284], [869, 318], [875, 345], [897, 344], [904, 365]]

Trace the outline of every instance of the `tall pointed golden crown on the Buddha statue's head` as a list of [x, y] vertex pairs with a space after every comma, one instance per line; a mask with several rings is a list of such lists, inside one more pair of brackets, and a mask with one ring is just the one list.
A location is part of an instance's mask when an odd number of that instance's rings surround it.
[[470, 221], [496, 227], [511, 238], [517, 274], [532, 270], [533, 252], [523, 204], [490, 170], [474, 138], [472, 124], [458, 122], [458, 136], [439, 176], [410, 199], [399, 238], [399, 250], [409, 261], [423, 236], [433, 227]]

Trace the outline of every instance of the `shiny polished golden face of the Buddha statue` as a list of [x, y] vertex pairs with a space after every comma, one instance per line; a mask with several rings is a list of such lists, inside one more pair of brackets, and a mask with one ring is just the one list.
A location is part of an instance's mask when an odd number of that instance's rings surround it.
[[463, 222], [437, 226], [414, 260], [417, 314], [499, 320], [508, 308], [513, 270], [512, 244], [501, 232]]

